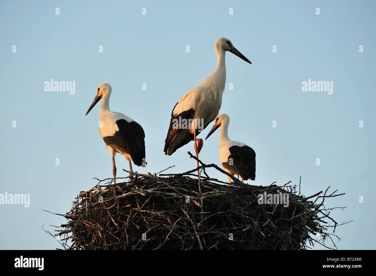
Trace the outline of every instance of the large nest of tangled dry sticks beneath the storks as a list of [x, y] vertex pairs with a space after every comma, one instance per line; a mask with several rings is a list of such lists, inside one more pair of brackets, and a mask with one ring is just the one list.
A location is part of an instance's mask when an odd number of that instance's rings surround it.
[[[307, 249], [315, 242], [325, 246], [329, 239], [337, 248], [332, 236], [338, 236], [328, 233], [338, 225], [329, 217], [334, 208], [323, 205], [325, 198], [338, 196], [337, 190], [326, 195], [328, 187], [323, 196], [321, 191], [305, 197], [300, 183], [251, 186], [233, 176], [229, 186], [210, 178], [205, 168], [226, 172], [214, 164], [201, 164], [200, 180], [195, 170], [159, 176], [135, 173], [134, 181], [111, 187], [105, 182], [112, 179], [98, 179], [62, 215], [68, 223], [56, 230], [61, 245], [89, 250]], [[259, 195], [265, 192], [288, 195], [288, 207], [282, 202], [259, 204]]]

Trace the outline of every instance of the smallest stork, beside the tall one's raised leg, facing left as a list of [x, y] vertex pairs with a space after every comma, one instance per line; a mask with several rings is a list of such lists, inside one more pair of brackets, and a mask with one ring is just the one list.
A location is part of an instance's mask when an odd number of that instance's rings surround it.
[[[244, 179], [255, 180], [256, 173], [256, 153], [255, 151], [244, 143], [232, 141], [229, 139], [227, 130], [229, 127], [230, 117], [226, 114], [220, 114], [215, 119], [214, 126], [209, 131], [209, 136], [218, 128], [221, 127], [219, 136], [219, 156], [224, 170], [231, 175], [238, 175], [241, 182]], [[231, 183], [230, 176], [227, 179]]]

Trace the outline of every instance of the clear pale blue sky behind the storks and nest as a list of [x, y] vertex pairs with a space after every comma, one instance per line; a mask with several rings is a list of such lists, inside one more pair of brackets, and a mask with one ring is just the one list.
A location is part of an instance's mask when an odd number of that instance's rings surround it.
[[[346, 193], [326, 202], [347, 206], [332, 212], [337, 222], [354, 220], [336, 229], [338, 249], [375, 249], [375, 9], [374, 1], [2, 1], [0, 193], [29, 193], [30, 207], [0, 205], [0, 249], [54, 249], [42, 225], [53, 231], [65, 220], [41, 209], [65, 213], [97, 184], [93, 177], [112, 177], [99, 104], [84, 116], [101, 83], [112, 86], [111, 110], [145, 130], [148, 165], [135, 170], [193, 169], [193, 143], [165, 156], [164, 139], [176, 102], [214, 71], [220, 37], [252, 62], [226, 54], [220, 110], [230, 116], [230, 139], [256, 151], [252, 184], [302, 176], [305, 195], [329, 185]], [[75, 81], [76, 93], [45, 92], [51, 78]], [[309, 78], [333, 81], [333, 94], [302, 92]], [[221, 165], [218, 140], [219, 131], [204, 142], [205, 163]], [[127, 161], [118, 155], [116, 164], [126, 176]]]

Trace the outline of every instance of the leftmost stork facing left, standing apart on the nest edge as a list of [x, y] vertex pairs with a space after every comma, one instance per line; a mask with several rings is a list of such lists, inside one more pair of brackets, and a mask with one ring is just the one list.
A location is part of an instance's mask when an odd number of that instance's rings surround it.
[[[110, 110], [110, 95], [112, 87], [108, 83], [102, 83], [97, 90], [97, 95], [94, 98], [91, 106], [86, 112], [88, 115], [90, 110], [102, 99], [100, 104], [100, 128], [99, 134], [110, 151], [112, 156], [112, 174], [114, 175], [114, 184], [116, 184], [116, 166], [115, 154], [118, 152], [124, 155], [125, 159], [129, 161], [130, 172], [132, 170], [132, 163], [136, 166], [145, 167], [145, 133], [141, 125], [120, 112], [113, 112]], [[129, 174], [131, 176], [131, 174]]]

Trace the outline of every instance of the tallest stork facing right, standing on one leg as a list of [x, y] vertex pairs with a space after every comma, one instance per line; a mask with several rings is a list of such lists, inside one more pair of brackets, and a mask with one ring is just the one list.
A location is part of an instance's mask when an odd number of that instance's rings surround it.
[[[173, 108], [165, 140], [165, 154], [171, 155], [178, 148], [194, 141], [194, 151], [198, 158], [203, 140], [196, 137], [218, 116], [221, 108], [226, 82], [226, 51], [252, 64], [232, 45], [229, 39], [220, 38], [215, 42], [215, 52], [218, 57], [217, 68], [202, 83], [186, 92]], [[198, 166], [199, 161], [197, 161]], [[199, 174], [198, 171], [197, 174]]]

